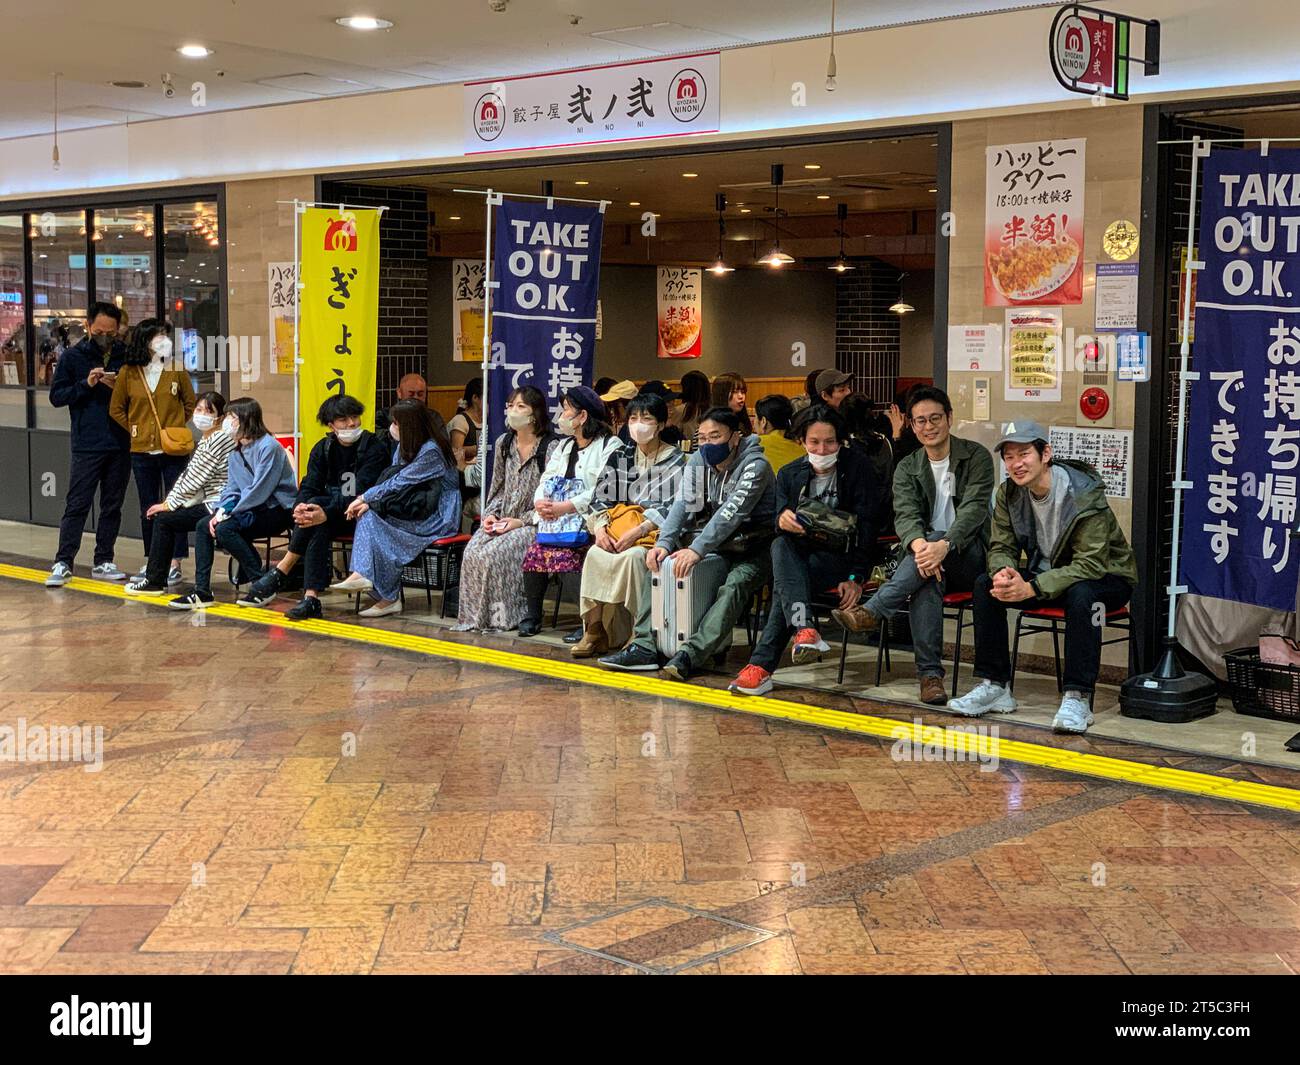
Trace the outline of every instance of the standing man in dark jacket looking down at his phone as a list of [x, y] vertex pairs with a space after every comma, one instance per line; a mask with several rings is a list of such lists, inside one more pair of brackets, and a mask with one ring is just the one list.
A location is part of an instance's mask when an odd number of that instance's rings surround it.
[[96, 580], [126, 580], [126, 573], [113, 563], [113, 549], [122, 524], [122, 499], [131, 477], [131, 441], [126, 430], [108, 416], [117, 372], [126, 358], [126, 348], [117, 338], [121, 322], [118, 307], [92, 303], [86, 315], [86, 335], [58, 356], [49, 385], [51, 404], [68, 407], [73, 447], [64, 518], [58, 523], [58, 553], [46, 577], [46, 588], [61, 588], [72, 577], [96, 489], [99, 521], [95, 525], [95, 562], [90, 575]]

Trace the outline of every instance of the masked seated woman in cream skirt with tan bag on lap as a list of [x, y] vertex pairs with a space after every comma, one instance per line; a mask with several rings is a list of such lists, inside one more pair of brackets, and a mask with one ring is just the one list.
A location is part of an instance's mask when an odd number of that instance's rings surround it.
[[593, 658], [620, 649], [632, 635], [632, 619], [649, 580], [646, 549], [677, 495], [686, 456], [664, 443], [668, 407], [654, 394], [628, 401], [627, 429], [632, 443], [610, 456], [592, 502], [588, 528], [595, 542], [582, 563], [582, 638], [575, 658]]

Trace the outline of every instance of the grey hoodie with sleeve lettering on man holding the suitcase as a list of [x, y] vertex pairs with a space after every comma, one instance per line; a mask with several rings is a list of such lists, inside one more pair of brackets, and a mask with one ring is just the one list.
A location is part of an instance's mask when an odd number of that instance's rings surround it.
[[681, 475], [677, 498], [659, 529], [655, 546], [672, 553], [690, 547], [703, 557], [737, 547], [751, 534], [771, 538], [776, 532], [776, 477], [757, 434], [742, 437], [736, 456], [724, 471], [708, 466], [696, 451]]

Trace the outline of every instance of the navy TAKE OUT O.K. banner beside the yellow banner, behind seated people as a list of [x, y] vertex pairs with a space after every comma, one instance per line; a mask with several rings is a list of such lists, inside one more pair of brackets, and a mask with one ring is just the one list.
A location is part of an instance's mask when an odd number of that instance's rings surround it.
[[592, 384], [603, 222], [601, 209], [586, 204], [506, 200], [497, 208], [490, 442], [506, 429], [514, 389], [540, 389], [554, 419], [568, 389]]

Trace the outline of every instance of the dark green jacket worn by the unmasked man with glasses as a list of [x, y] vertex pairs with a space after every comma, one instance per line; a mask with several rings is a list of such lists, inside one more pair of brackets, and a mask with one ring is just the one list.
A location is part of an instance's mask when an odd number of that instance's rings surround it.
[[[953, 475], [953, 524], [945, 537], [954, 551], [971, 544], [988, 546], [988, 502], [993, 495], [993, 458], [975, 441], [949, 437], [948, 472]], [[924, 447], [913, 451], [894, 469], [894, 532], [900, 550], [933, 529], [935, 475]]]

